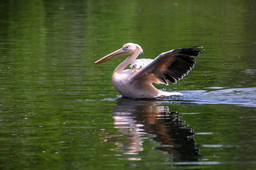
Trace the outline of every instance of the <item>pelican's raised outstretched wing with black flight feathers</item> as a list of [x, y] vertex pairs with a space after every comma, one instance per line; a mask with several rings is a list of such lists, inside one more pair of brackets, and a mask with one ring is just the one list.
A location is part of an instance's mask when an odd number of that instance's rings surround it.
[[[192, 56], [198, 56], [201, 51], [203, 51], [202, 46], [163, 52], [144, 68], [138, 70], [130, 80], [145, 81], [147, 76], [150, 76], [151, 83], [168, 85], [167, 80], [171, 83], [177, 83], [177, 80], [186, 76], [194, 67], [195, 59]], [[152, 78], [152, 76], [155, 78]]]

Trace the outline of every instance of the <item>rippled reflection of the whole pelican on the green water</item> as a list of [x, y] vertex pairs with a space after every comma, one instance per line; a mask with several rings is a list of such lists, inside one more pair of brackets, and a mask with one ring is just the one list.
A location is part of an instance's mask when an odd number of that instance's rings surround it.
[[[154, 134], [153, 140], [161, 145], [156, 149], [173, 155], [173, 161], [198, 161], [199, 152], [192, 129], [180, 119], [180, 114], [169, 111], [168, 106], [152, 101], [122, 98], [114, 106], [112, 117], [121, 135], [105, 136], [105, 142], [118, 145], [112, 149], [125, 154], [143, 151], [145, 135]], [[132, 158], [131, 158], [132, 159]]]

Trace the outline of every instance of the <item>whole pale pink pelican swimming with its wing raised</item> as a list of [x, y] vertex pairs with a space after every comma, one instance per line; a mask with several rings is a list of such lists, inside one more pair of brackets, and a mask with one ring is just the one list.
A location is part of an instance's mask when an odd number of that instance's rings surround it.
[[[203, 51], [202, 46], [186, 47], [161, 53], [155, 59], [136, 59], [143, 52], [135, 43], [124, 44], [122, 48], [94, 62], [94, 65], [128, 55], [114, 70], [112, 84], [125, 97], [155, 98], [159, 96], [182, 95], [179, 92], [164, 92], [152, 83], [168, 85], [177, 83], [194, 67], [195, 59]], [[130, 64], [131, 69], [125, 69]]]

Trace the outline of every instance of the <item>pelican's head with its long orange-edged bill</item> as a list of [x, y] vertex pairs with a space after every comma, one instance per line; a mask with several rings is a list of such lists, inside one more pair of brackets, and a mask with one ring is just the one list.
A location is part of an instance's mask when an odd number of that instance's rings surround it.
[[101, 59], [94, 62], [94, 65], [100, 64], [102, 62], [108, 61], [110, 59], [114, 59], [124, 55], [132, 55], [135, 51], [138, 51], [139, 54], [143, 52], [142, 48], [135, 43], [127, 43], [124, 44], [122, 48], [117, 51], [111, 52], [110, 54], [102, 57]]

